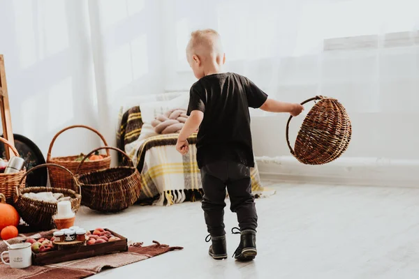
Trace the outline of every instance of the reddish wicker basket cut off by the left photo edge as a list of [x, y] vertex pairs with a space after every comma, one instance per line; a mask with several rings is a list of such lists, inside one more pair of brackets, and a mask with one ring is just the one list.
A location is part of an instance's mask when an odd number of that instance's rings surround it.
[[[0, 142], [6, 144], [12, 149], [15, 156], [19, 157], [19, 153], [14, 146], [10, 145], [10, 142], [0, 137]], [[5, 146], [6, 147], [6, 146]], [[6, 148], [5, 148], [6, 149]], [[20, 179], [25, 176], [26, 168], [22, 169], [20, 172], [15, 172], [13, 174], [0, 174], [0, 193], [6, 196], [6, 203], [13, 204], [13, 193], [15, 193], [16, 186], [19, 186]], [[24, 182], [24, 181], [23, 181]], [[24, 188], [24, 183], [20, 185], [21, 188]]]

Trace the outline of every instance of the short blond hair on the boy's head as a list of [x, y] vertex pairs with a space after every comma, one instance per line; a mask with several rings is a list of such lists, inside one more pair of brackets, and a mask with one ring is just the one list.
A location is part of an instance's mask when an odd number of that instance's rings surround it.
[[191, 40], [186, 47], [186, 57], [190, 59], [193, 54], [200, 56], [201, 59], [222, 56], [223, 47], [220, 34], [213, 29], [193, 31]]

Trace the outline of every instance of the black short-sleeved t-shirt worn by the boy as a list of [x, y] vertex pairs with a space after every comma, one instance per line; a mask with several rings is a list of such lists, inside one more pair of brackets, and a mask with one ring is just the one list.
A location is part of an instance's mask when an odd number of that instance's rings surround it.
[[196, 144], [198, 167], [217, 160], [254, 167], [249, 107], [260, 107], [267, 95], [235, 73], [207, 75], [192, 85], [190, 94], [188, 115], [204, 113]]

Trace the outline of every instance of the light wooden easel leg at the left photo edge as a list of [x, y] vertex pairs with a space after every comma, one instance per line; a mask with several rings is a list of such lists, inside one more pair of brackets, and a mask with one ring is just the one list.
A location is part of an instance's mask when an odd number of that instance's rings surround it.
[[[6, 70], [4, 69], [4, 58], [3, 54], [0, 54], [0, 113], [1, 113], [1, 126], [3, 126], [3, 137], [10, 142], [12, 146], [15, 146], [15, 140], [13, 139], [12, 131], [12, 118], [10, 116], [10, 107], [8, 104], [8, 93], [6, 84]], [[12, 149], [4, 146], [6, 151], [7, 160], [10, 159], [10, 154], [13, 154]]]

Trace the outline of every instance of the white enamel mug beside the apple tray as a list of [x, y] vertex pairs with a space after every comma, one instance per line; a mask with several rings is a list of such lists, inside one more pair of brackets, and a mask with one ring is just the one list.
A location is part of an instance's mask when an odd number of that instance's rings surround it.
[[[9, 262], [3, 259], [3, 255], [9, 255]], [[13, 269], [25, 269], [32, 265], [31, 243], [17, 243], [10, 245], [8, 251], [1, 253], [1, 262], [10, 265]]]

